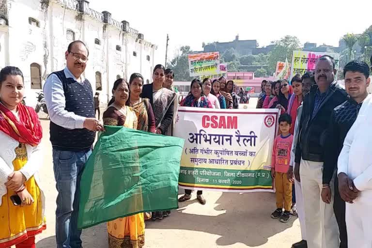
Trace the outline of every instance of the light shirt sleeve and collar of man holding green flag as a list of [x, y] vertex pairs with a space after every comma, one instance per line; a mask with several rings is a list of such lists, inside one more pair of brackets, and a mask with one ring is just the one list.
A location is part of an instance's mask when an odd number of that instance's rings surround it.
[[[84, 83], [83, 76], [80, 81], [65, 67], [63, 69], [66, 78], [73, 78], [79, 84]], [[64, 96], [63, 85], [57, 75], [52, 74], [44, 84], [44, 96], [47, 104], [50, 120], [66, 129], [81, 129], [84, 126], [86, 117], [79, 116], [74, 112], [68, 112], [66, 108], [66, 98]]]

